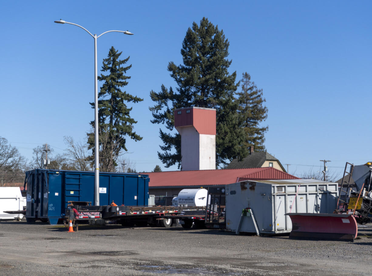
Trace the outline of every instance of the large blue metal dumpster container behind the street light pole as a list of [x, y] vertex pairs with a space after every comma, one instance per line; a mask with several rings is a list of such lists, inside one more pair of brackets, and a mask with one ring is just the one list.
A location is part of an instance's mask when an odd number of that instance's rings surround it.
[[[100, 173], [99, 203], [137, 206], [148, 204], [148, 174]], [[35, 169], [26, 172], [26, 220], [57, 224], [69, 201], [94, 203], [94, 172]], [[93, 204], [92, 204], [93, 205]]]

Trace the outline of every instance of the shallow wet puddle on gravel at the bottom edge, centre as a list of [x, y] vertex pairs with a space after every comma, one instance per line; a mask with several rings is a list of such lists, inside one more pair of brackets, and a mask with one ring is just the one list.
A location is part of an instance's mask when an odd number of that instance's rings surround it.
[[196, 274], [196, 275], [240, 275], [240, 273], [229, 273], [226, 271], [212, 271], [201, 267], [191, 267], [191, 268], [177, 268], [172, 266], [149, 266], [142, 265], [140, 267], [148, 268], [142, 269], [143, 272], [152, 272], [159, 274]]

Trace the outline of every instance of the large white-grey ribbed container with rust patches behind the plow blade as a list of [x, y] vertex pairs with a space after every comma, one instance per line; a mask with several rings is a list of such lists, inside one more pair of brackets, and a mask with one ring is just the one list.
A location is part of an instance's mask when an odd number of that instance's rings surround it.
[[[339, 193], [337, 183], [314, 179], [244, 181], [225, 189], [226, 230], [235, 232], [242, 210], [251, 208], [263, 234], [291, 232], [289, 212], [332, 213]], [[252, 216], [244, 216], [240, 232], [256, 232]]]

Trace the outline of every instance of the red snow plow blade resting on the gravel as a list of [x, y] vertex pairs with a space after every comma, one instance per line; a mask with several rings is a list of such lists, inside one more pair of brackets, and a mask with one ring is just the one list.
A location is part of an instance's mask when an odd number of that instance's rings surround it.
[[352, 214], [286, 214], [292, 220], [289, 238], [354, 241], [358, 227]]

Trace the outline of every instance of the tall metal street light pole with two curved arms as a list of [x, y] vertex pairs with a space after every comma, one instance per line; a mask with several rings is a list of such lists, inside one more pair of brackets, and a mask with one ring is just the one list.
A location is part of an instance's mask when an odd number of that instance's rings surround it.
[[98, 80], [97, 80], [97, 38], [105, 33], [119, 32], [125, 35], [133, 35], [128, 31], [107, 31], [101, 33], [99, 36], [96, 34], [92, 35], [87, 29], [75, 23], [66, 22], [65, 20], [56, 20], [55, 23], [59, 24], [71, 24], [80, 27], [87, 33], [89, 33], [94, 39], [94, 205], [99, 205], [99, 141], [98, 141]]

